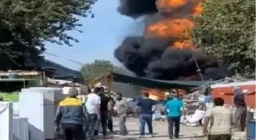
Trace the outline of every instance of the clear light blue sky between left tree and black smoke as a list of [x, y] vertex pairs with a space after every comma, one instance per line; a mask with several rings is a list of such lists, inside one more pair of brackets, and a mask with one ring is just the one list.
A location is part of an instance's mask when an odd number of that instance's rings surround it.
[[82, 30], [83, 33], [69, 33], [69, 36], [75, 37], [79, 42], [72, 43], [72, 47], [46, 43], [46, 52], [50, 53], [44, 54], [46, 59], [73, 70], [79, 70], [82, 64], [93, 62], [95, 59], [104, 59], [119, 65], [114, 58], [114, 49], [126, 36], [138, 33], [137, 30], [131, 29], [134, 29], [133, 27], [138, 24], [136, 22], [139, 21], [119, 14], [118, 2], [119, 0], [98, 0], [92, 7], [94, 18], [81, 18], [79, 21], [83, 26], [78, 27], [78, 30]]

